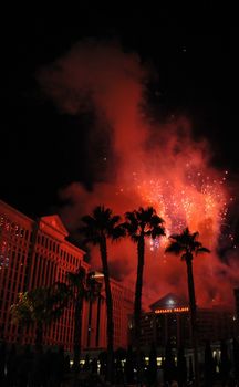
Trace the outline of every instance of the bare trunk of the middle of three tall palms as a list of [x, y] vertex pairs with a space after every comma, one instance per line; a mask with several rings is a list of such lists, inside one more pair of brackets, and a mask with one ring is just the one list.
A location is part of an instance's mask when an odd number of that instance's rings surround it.
[[137, 362], [137, 383], [141, 383], [141, 315], [142, 315], [142, 286], [143, 286], [143, 271], [144, 271], [144, 253], [145, 241], [141, 237], [137, 243], [137, 279], [135, 284], [135, 304], [134, 304], [134, 331], [136, 345], [136, 362]]

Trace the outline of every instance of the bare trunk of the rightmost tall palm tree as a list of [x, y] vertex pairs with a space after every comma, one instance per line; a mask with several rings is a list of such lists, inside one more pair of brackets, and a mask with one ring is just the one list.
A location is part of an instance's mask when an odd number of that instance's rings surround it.
[[195, 386], [199, 386], [199, 365], [198, 365], [198, 342], [197, 342], [197, 306], [195, 297], [195, 285], [193, 274], [191, 259], [186, 260], [187, 263], [187, 278], [188, 278], [188, 295], [190, 306], [190, 323], [191, 323], [191, 338], [194, 347], [194, 360], [195, 360]]

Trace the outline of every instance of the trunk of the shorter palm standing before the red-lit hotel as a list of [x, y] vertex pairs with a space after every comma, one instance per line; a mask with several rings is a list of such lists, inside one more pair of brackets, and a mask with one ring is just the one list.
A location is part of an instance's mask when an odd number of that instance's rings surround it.
[[83, 300], [81, 294], [77, 294], [74, 313], [74, 372], [79, 372], [81, 357], [81, 332], [82, 332], [82, 306]]

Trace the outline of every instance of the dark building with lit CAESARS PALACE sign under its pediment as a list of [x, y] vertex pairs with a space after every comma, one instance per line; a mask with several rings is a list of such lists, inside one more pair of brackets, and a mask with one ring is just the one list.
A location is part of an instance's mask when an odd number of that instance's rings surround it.
[[[169, 293], [150, 306], [150, 312], [142, 315], [141, 344], [146, 351], [152, 343], [157, 348], [185, 348], [191, 346], [191, 331], [188, 302], [176, 294]], [[197, 330], [199, 345], [206, 341], [219, 342], [229, 339], [235, 334], [235, 316], [232, 312], [220, 308], [197, 310]]]

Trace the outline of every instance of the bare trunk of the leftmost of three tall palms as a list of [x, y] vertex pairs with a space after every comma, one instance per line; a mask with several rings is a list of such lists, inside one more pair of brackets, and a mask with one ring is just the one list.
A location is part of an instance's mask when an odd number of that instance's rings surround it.
[[101, 241], [101, 259], [102, 259], [102, 268], [104, 274], [105, 282], [105, 296], [106, 296], [106, 311], [107, 311], [107, 369], [106, 369], [106, 379], [107, 381], [112, 381], [114, 375], [114, 322], [113, 322], [113, 302], [112, 302], [112, 292], [110, 284], [110, 274], [108, 274], [108, 265], [107, 265], [107, 247], [106, 239], [102, 237]]

